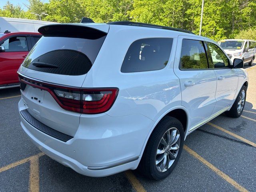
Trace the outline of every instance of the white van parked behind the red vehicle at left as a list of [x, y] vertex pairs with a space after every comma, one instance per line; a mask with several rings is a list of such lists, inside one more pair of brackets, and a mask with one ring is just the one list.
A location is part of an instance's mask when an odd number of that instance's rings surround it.
[[0, 17], [0, 32], [38, 32], [38, 28], [54, 22]]

